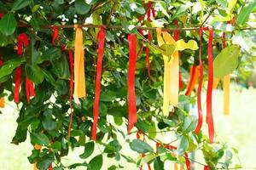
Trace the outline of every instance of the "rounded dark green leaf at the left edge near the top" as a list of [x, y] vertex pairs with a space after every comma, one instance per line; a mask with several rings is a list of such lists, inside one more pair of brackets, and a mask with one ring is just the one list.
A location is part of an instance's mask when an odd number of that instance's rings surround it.
[[6, 35], [12, 35], [17, 27], [17, 22], [15, 20], [15, 15], [13, 13], [8, 13], [3, 15], [3, 18], [0, 20], [0, 31]]

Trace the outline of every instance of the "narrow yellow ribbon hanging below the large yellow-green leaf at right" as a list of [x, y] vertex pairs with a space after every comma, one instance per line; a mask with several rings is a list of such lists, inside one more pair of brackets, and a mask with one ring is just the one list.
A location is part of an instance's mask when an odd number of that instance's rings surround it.
[[224, 116], [230, 115], [230, 74], [224, 76]]

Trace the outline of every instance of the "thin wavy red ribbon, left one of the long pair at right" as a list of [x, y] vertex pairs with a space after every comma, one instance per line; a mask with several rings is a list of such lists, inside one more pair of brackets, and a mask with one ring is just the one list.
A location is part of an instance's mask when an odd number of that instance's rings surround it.
[[197, 109], [198, 109], [198, 122], [197, 126], [195, 127], [195, 133], [199, 133], [201, 130], [201, 125], [203, 122], [203, 114], [202, 114], [202, 109], [201, 109], [201, 88], [202, 88], [202, 82], [204, 78], [204, 68], [201, 60], [201, 35], [202, 35], [202, 28], [199, 30], [199, 35], [200, 35], [200, 47], [199, 47], [199, 69], [200, 69], [200, 77], [199, 77], [199, 84], [197, 88]]

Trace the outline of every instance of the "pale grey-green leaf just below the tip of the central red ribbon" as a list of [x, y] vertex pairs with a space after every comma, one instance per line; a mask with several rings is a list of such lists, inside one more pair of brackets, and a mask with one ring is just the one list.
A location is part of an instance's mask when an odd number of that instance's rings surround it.
[[137, 151], [140, 154], [154, 151], [149, 144], [139, 139], [133, 139], [130, 144], [130, 147], [131, 147], [131, 150]]

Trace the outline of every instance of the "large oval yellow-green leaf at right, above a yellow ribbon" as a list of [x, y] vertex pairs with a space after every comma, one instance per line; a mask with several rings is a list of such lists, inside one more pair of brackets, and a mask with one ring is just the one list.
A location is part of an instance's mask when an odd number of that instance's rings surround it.
[[240, 48], [236, 45], [224, 48], [213, 61], [214, 77], [222, 78], [234, 71], [238, 65]]

